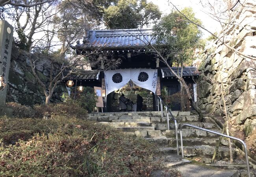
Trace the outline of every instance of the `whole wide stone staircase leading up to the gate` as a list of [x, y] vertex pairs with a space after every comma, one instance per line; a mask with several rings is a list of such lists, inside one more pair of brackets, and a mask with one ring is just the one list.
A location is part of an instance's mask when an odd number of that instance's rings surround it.
[[[197, 114], [193, 112], [179, 112], [173, 111], [172, 114], [176, 118], [178, 124], [178, 139], [180, 147], [180, 126], [182, 124], [191, 124], [205, 129], [211, 129], [213, 131], [221, 132], [221, 129], [218, 127], [213, 120], [209, 117], [204, 118], [204, 122], [198, 120]], [[170, 118], [170, 116], [169, 116]], [[181, 155], [177, 155], [176, 148], [176, 134], [175, 134], [175, 125], [170, 119], [169, 125], [170, 130], [167, 130], [167, 118], [166, 114], [161, 118], [161, 112], [148, 111], [148, 112], [105, 112], [105, 113], [91, 113], [89, 115], [89, 120], [95, 120], [99, 124], [107, 124], [117, 129], [121, 129], [124, 133], [141, 136], [150, 142], [154, 142], [160, 146], [160, 157], [163, 160], [163, 164], [167, 167], [179, 166], [180, 169], [183, 169], [181, 172], [183, 176], [186, 176], [186, 168], [184, 166], [188, 165], [191, 162], [191, 159], [199, 159], [204, 163], [209, 163], [215, 145], [218, 141], [218, 136], [212, 133], [207, 133], [198, 129], [193, 129], [191, 127], [184, 127], [182, 129], [183, 135], [183, 145], [184, 145], [184, 156], [189, 157], [190, 159], [182, 159]], [[228, 149], [227, 140], [222, 140], [221, 146], [216, 159], [229, 158], [229, 149]], [[180, 149], [179, 149], [180, 150]], [[239, 157], [239, 151], [234, 148], [234, 157]], [[193, 162], [191, 168], [196, 168], [197, 164]], [[239, 176], [239, 173], [235, 170], [220, 170], [219, 168], [213, 168], [209, 166], [198, 165], [200, 169], [211, 169], [215, 171], [209, 176], [218, 176], [217, 174], [225, 174], [224, 176]], [[197, 170], [200, 170], [197, 169]], [[219, 172], [217, 172], [219, 171]], [[191, 172], [190, 172], [191, 173]], [[203, 174], [203, 173], [202, 173]], [[204, 173], [206, 174], [206, 173]], [[209, 173], [210, 174], [210, 173]], [[161, 171], [156, 172], [153, 176], [162, 176]], [[195, 177], [205, 176], [195, 173]], [[221, 175], [220, 175], [221, 176]], [[223, 175], [222, 175], [223, 176]]]

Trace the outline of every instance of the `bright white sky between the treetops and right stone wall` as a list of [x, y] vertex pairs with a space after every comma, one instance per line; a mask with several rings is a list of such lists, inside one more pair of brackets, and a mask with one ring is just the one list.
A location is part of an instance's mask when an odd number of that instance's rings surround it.
[[[163, 14], [168, 14], [171, 12], [171, 9], [173, 9], [173, 6], [169, 4], [167, 0], [148, 0], [148, 2], [153, 2], [154, 4], [158, 5]], [[183, 9], [184, 7], [191, 7], [195, 13], [195, 17], [199, 18], [204, 27], [211, 32], [214, 33], [215, 31], [221, 30], [219, 23], [204, 12], [206, 9], [202, 7], [202, 4], [200, 3], [201, 0], [172, 0], [171, 2], [179, 10]], [[210, 35], [207, 31], [202, 30], [202, 32], [203, 38]]]

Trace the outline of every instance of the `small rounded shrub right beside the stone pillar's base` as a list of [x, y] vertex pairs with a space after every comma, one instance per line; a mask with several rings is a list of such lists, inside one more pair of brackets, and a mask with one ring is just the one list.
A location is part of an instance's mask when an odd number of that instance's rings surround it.
[[13, 116], [18, 118], [28, 118], [34, 117], [35, 111], [28, 106], [21, 105], [20, 103], [9, 102], [6, 103], [7, 107], [11, 107], [13, 109]]

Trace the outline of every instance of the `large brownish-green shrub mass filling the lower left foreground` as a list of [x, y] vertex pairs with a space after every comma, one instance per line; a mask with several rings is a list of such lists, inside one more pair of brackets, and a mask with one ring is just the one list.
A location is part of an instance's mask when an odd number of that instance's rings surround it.
[[161, 168], [153, 158], [158, 147], [88, 120], [7, 118], [0, 120], [0, 127], [0, 139], [4, 133], [22, 134], [29, 127], [34, 134], [15, 146], [0, 145], [0, 176], [137, 177]]

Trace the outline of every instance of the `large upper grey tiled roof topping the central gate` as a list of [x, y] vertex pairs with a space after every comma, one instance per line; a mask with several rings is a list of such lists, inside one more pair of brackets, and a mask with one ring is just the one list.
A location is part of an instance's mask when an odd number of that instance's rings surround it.
[[152, 29], [123, 29], [123, 30], [89, 30], [83, 38], [83, 44], [72, 48], [132, 48], [143, 47], [145, 43], [155, 44]]

